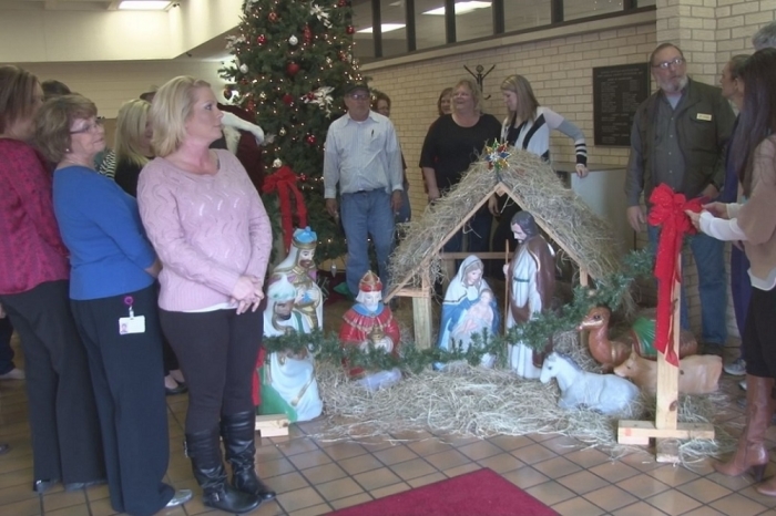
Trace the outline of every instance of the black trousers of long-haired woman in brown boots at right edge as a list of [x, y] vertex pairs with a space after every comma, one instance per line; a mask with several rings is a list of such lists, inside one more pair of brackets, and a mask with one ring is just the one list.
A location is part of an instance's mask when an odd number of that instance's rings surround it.
[[752, 288], [742, 347], [747, 374], [776, 378], [776, 287]]

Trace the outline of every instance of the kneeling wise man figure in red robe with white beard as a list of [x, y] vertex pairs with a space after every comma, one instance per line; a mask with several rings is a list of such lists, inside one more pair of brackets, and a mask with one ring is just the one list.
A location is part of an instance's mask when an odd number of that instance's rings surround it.
[[[398, 357], [399, 324], [394, 319], [390, 308], [382, 305], [382, 282], [375, 272], [367, 271], [359, 281], [356, 301], [343, 316], [343, 326], [339, 329], [341, 345], [355, 345], [363, 351], [374, 348]], [[367, 371], [363, 368], [351, 368], [347, 363], [345, 367], [353, 380], [371, 391], [390, 386], [401, 380], [401, 371], [398, 368]]]

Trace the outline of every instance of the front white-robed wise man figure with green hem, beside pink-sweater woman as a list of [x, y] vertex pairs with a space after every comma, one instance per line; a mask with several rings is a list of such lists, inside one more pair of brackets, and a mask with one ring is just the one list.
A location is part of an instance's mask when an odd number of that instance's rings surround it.
[[[269, 285], [264, 337], [309, 333], [306, 318], [294, 308], [296, 288], [285, 275]], [[306, 349], [269, 353], [259, 364], [262, 414], [286, 414], [293, 423], [320, 415], [324, 403], [315, 378], [315, 360]]]

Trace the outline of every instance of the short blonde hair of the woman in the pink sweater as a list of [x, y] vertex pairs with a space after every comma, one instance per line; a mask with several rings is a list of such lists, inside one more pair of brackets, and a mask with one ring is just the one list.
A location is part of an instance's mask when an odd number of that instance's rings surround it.
[[196, 91], [211, 87], [202, 79], [181, 75], [159, 89], [151, 104], [154, 135], [151, 144], [157, 156], [169, 156], [181, 147], [186, 138], [186, 120], [196, 102]]

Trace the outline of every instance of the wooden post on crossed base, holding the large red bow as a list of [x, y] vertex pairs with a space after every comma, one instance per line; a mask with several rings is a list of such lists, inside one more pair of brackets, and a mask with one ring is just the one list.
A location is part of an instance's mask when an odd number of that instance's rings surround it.
[[[682, 277], [682, 256], [677, 260], [676, 276]], [[671, 324], [674, 338], [671, 345], [678, 357], [680, 331], [677, 321], [681, 310], [680, 282], [674, 281], [671, 291], [673, 313]], [[623, 420], [617, 425], [617, 442], [621, 444], [649, 445], [655, 438], [657, 462], [678, 463], [678, 440], [714, 438], [714, 426], [707, 423], [678, 423], [678, 373], [680, 368], [670, 364], [663, 353], [657, 353], [657, 410], [655, 421]]]

